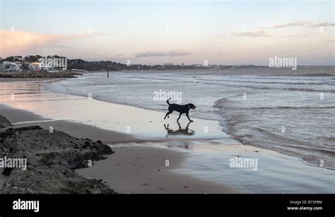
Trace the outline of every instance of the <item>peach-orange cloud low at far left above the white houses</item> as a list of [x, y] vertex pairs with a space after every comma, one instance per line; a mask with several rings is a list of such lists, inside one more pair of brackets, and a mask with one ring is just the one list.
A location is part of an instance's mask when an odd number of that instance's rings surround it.
[[24, 31], [11, 32], [0, 30], [0, 55], [1, 57], [22, 54], [34, 47], [50, 46], [61, 47], [59, 42], [75, 40], [82, 37], [92, 37], [100, 34], [73, 34], [73, 35], [52, 35], [42, 33], [31, 33]]

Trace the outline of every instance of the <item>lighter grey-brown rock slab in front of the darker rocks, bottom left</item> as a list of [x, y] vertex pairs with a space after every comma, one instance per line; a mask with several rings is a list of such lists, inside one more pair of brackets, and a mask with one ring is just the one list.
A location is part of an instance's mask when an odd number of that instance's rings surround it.
[[2, 194], [113, 194], [102, 180], [89, 180], [59, 165], [13, 170]]

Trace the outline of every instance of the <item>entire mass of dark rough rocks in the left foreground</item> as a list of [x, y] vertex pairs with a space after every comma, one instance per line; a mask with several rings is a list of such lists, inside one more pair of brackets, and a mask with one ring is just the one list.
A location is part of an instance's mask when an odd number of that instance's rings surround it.
[[[26, 158], [27, 168], [5, 168], [3, 194], [112, 194], [102, 180], [81, 177], [76, 169], [105, 159], [112, 149], [90, 139], [38, 126], [0, 132], [0, 158]], [[2, 168], [0, 168], [1, 171]]]

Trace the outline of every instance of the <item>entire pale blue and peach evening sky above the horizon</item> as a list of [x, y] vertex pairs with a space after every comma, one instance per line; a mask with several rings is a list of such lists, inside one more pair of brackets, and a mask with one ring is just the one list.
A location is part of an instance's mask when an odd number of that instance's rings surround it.
[[334, 65], [334, 1], [0, 0], [0, 57]]

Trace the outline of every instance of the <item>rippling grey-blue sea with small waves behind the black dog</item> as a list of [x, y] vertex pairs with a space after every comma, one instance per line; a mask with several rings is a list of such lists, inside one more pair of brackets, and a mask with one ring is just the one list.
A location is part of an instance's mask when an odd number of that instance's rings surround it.
[[180, 91], [181, 104], [196, 105], [191, 117], [218, 120], [245, 144], [335, 168], [334, 67], [86, 74], [45, 90], [160, 112], [167, 104], [155, 91]]

